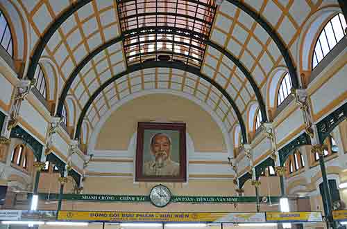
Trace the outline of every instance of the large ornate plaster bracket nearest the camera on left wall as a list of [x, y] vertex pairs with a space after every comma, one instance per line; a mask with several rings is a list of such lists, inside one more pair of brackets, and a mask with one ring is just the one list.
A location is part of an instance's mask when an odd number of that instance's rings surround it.
[[16, 86], [15, 101], [13, 102], [12, 111], [10, 114], [10, 120], [8, 120], [7, 129], [10, 131], [13, 127], [18, 124], [18, 114], [22, 105], [23, 100], [25, 100], [26, 95], [31, 91], [31, 88], [35, 85], [36, 80], [22, 80]]

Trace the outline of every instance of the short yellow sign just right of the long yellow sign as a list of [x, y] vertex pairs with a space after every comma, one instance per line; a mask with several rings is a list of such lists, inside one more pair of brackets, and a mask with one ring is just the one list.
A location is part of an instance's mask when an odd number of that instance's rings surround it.
[[266, 212], [266, 221], [321, 222], [321, 212]]

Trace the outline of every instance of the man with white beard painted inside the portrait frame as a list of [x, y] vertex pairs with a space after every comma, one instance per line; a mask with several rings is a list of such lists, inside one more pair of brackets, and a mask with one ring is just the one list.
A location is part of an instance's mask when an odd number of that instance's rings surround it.
[[178, 176], [180, 165], [171, 161], [171, 139], [163, 133], [155, 134], [151, 139], [152, 161], [144, 163], [145, 176]]

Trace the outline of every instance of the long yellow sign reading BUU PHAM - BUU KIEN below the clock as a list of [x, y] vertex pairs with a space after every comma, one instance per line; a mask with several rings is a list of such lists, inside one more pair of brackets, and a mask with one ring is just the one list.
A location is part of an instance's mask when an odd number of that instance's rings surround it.
[[78, 212], [60, 211], [62, 221], [264, 222], [264, 212]]

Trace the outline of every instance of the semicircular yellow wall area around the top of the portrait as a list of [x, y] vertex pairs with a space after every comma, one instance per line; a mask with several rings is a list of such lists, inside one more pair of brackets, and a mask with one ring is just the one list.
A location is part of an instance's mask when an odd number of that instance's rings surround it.
[[136, 98], [112, 113], [101, 128], [96, 149], [128, 149], [137, 122], [151, 120], [185, 122], [196, 152], [226, 152], [221, 130], [208, 112], [194, 102], [165, 94]]

